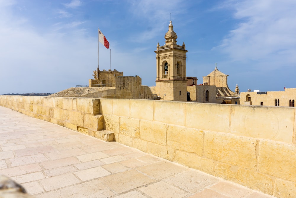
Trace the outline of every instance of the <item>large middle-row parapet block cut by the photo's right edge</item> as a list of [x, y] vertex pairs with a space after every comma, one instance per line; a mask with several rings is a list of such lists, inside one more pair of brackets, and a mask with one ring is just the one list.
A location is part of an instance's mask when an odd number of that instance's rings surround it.
[[295, 154], [296, 145], [261, 140], [258, 156], [259, 171], [296, 181]]

